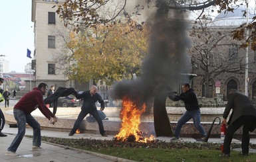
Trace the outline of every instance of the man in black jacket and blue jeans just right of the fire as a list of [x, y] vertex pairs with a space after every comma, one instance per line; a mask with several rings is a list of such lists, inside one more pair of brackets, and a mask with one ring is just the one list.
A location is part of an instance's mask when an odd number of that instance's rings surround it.
[[177, 123], [176, 130], [174, 132], [175, 137], [171, 140], [178, 140], [180, 138], [180, 131], [182, 130], [182, 126], [188, 122], [190, 119], [193, 118], [193, 125], [197, 130], [200, 132], [200, 134], [205, 138], [206, 133], [203, 127], [200, 124], [201, 120], [201, 113], [197, 101], [197, 97], [193, 91], [193, 89], [190, 88], [190, 83], [184, 83], [182, 85], [182, 91], [183, 93], [180, 95], [170, 95], [169, 98], [172, 101], [184, 101], [186, 112], [182, 115], [180, 120]]

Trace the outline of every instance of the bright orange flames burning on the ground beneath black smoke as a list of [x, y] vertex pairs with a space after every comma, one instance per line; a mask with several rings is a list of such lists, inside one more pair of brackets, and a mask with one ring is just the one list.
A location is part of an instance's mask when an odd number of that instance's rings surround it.
[[132, 139], [136, 142], [148, 142], [154, 140], [154, 136], [146, 138], [142, 136], [142, 132], [139, 130], [140, 116], [146, 110], [146, 104], [142, 105], [142, 108], [137, 108], [136, 104], [128, 98], [122, 100], [122, 110], [120, 118], [122, 119], [122, 127], [120, 132], [115, 136], [116, 140], [129, 140]]

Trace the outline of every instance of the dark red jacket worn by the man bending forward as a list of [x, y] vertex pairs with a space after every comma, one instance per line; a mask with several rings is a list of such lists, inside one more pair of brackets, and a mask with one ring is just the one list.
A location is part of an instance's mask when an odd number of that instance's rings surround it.
[[43, 94], [39, 88], [34, 88], [33, 91], [26, 93], [20, 100], [15, 104], [14, 108], [25, 112], [25, 114], [31, 114], [33, 110], [37, 109], [43, 113], [43, 115], [50, 120], [55, 115], [45, 106], [43, 102]]

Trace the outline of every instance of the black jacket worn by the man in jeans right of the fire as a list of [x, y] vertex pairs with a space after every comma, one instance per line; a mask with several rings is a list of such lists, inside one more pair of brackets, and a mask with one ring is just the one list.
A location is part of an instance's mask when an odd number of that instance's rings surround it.
[[186, 93], [175, 95], [174, 97], [169, 96], [169, 98], [172, 101], [179, 101], [179, 100], [184, 101], [185, 108], [187, 111], [193, 111], [193, 110], [199, 109], [197, 97], [193, 89], [189, 89]]

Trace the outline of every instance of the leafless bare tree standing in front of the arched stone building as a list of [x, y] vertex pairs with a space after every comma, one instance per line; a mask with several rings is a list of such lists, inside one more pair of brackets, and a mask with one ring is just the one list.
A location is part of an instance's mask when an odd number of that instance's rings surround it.
[[240, 42], [233, 40], [233, 28], [210, 26], [207, 19], [199, 19], [190, 31], [193, 47], [193, 72], [203, 78], [205, 97], [210, 97], [209, 83], [221, 73], [242, 73], [245, 67], [243, 56], [239, 55]]

